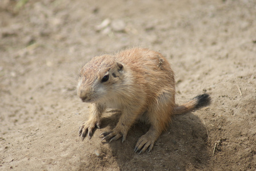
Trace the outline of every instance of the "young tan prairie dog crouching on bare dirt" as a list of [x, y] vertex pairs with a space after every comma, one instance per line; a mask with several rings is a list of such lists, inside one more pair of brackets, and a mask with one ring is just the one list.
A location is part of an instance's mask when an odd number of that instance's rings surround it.
[[137, 120], [149, 123], [149, 131], [141, 136], [134, 152], [145, 152], [153, 145], [174, 114], [185, 113], [209, 102], [209, 95], [195, 97], [183, 105], [175, 104], [175, 81], [167, 59], [159, 52], [146, 48], [131, 48], [114, 55], [96, 56], [81, 69], [78, 96], [93, 103], [89, 120], [79, 128], [82, 140], [100, 128], [106, 108], [120, 109], [117, 126], [103, 132], [109, 142], [122, 137], [125, 141], [131, 125]]

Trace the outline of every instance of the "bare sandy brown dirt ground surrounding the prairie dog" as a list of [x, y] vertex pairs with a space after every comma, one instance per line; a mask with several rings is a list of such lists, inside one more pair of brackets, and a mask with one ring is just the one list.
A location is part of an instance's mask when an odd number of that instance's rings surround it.
[[[0, 170], [255, 170], [256, 1], [0, 1]], [[175, 116], [150, 153], [101, 143], [119, 114], [81, 141], [89, 104], [76, 95], [93, 56], [141, 46], [171, 63], [177, 103], [212, 102]]]

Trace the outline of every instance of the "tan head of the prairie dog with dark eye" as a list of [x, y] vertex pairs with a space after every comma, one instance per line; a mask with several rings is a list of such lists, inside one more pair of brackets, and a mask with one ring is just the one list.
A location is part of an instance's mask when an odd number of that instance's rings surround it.
[[106, 101], [123, 80], [123, 64], [114, 56], [96, 56], [82, 67], [78, 80], [78, 96], [83, 102]]

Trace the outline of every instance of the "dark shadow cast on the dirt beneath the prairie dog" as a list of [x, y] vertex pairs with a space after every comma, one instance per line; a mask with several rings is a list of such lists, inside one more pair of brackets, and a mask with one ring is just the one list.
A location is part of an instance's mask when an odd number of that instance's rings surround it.
[[[120, 113], [115, 111], [108, 115], [102, 120], [102, 129], [96, 130], [97, 135], [117, 124]], [[207, 130], [198, 116], [193, 113], [174, 116], [169, 129], [155, 143], [153, 151], [134, 153], [137, 140], [148, 129], [149, 125], [137, 123], [128, 132], [124, 143], [121, 143], [121, 139], [111, 143], [103, 142], [103, 146], [109, 146], [110, 151], [102, 146], [99, 156], [94, 156], [95, 159], [101, 158], [101, 165], [108, 166], [111, 156], [121, 170], [187, 170], [207, 167], [210, 158], [207, 150]], [[108, 152], [110, 156], [107, 156]], [[81, 170], [85, 168], [88, 165], [81, 165]]]

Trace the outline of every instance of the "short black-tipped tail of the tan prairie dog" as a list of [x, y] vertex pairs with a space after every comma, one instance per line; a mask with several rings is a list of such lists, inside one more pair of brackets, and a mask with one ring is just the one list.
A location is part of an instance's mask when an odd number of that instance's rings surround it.
[[182, 114], [182, 113], [189, 112], [193, 109], [203, 107], [205, 105], [208, 105], [210, 103], [210, 101], [211, 101], [210, 96], [206, 93], [202, 94], [202, 95], [195, 96], [189, 102], [182, 104], [182, 105], [177, 105], [176, 107], [174, 107], [174, 114], [175, 115]]

